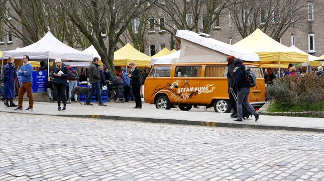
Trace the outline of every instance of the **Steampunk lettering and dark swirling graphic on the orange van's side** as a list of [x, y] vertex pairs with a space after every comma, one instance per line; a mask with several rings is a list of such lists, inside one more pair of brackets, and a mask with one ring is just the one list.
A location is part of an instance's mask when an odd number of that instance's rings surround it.
[[157, 85], [154, 89], [153, 94], [150, 95], [150, 97], [158, 93], [169, 92], [171, 94], [172, 99], [175, 99], [176, 102], [186, 101], [188, 99], [196, 98], [196, 95], [200, 95], [201, 93], [211, 93], [215, 89], [213, 84], [207, 84], [205, 86], [190, 86], [189, 83], [184, 83], [181, 85], [181, 83], [179, 82], [181, 82], [181, 80], [177, 80], [173, 83], [167, 83], [166, 86]]

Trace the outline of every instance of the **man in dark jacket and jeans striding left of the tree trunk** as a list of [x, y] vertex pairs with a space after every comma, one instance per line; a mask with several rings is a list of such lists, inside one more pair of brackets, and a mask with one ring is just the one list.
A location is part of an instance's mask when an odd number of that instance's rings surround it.
[[91, 97], [94, 95], [94, 93], [96, 93], [98, 98], [98, 106], [107, 106], [103, 104], [101, 101], [101, 89], [100, 89], [101, 77], [99, 74], [98, 62], [99, 62], [99, 58], [94, 57], [91, 65], [89, 66], [88, 72], [89, 72], [89, 82], [91, 83], [91, 92], [89, 96], [86, 98], [84, 105], [92, 106], [93, 104], [90, 103]]

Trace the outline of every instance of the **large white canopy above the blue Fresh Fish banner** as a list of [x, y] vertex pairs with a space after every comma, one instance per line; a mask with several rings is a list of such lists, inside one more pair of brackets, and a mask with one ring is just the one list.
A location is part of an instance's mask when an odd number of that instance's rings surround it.
[[71, 66], [89, 66], [92, 61], [92, 54], [84, 53], [69, 47], [56, 39], [51, 32], [47, 32], [46, 35], [38, 42], [29, 46], [4, 51], [3, 58], [13, 56], [16, 59], [22, 58], [23, 55], [28, 55], [31, 61], [47, 61], [54, 62], [57, 55], [60, 56], [65, 64]]

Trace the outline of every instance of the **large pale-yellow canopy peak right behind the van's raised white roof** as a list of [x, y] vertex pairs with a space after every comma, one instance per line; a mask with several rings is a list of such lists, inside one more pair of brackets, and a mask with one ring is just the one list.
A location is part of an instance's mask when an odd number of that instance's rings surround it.
[[260, 57], [260, 62], [257, 62], [259, 64], [308, 62], [307, 54], [296, 52], [282, 45], [260, 29], [256, 29], [251, 35], [233, 46], [257, 53]]

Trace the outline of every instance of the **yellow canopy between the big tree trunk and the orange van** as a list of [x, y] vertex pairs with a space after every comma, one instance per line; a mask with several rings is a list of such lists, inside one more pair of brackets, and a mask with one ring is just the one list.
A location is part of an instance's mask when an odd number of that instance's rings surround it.
[[150, 67], [151, 57], [136, 50], [129, 43], [114, 53], [115, 66], [127, 66], [130, 62], [135, 62], [138, 67]]

